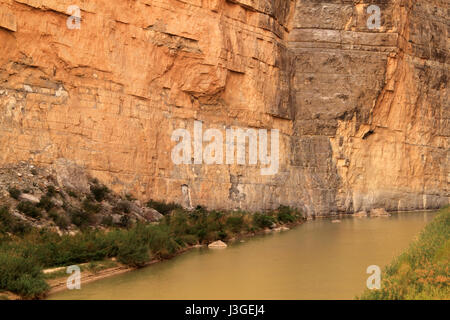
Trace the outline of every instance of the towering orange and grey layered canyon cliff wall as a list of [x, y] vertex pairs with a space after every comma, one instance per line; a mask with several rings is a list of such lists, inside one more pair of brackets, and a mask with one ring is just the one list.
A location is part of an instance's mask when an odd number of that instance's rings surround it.
[[[79, 29], [71, 5], [0, 0], [0, 164], [194, 207], [449, 203], [448, 1], [82, 1]], [[194, 120], [278, 129], [279, 170], [174, 164]]]

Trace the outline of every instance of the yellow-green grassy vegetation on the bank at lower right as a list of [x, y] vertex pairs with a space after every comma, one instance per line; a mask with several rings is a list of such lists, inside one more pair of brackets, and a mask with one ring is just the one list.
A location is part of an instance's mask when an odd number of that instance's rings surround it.
[[450, 206], [440, 210], [419, 238], [382, 273], [381, 289], [363, 300], [450, 299]]

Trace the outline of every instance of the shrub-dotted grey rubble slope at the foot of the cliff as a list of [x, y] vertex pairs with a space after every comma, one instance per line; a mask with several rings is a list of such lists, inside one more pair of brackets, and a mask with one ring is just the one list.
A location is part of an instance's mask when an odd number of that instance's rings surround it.
[[83, 168], [59, 160], [47, 168], [23, 161], [0, 168], [0, 218], [2, 232], [21, 234], [34, 227], [75, 234], [91, 227], [156, 223], [163, 215], [130, 195], [111, 192]]

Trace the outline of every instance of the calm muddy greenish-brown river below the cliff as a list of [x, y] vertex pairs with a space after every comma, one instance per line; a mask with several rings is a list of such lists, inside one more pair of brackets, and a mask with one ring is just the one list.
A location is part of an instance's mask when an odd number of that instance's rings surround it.
[[434, 212], [318, 219], [226, 249], [194, 249], [49, 299], [353, 299]]

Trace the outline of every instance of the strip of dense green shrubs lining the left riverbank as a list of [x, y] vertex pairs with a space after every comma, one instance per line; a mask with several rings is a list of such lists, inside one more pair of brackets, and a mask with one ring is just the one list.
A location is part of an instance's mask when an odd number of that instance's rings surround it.
[[[28, 206], [26, 211], [33, 215], [35, 210], [41, 212]], [[186, 211], [175, 204], [155, 201], [149, 201], [148, 206], [158, 208], [164, 217], [157, 223], [83, 228], [74, 235], [58, 234], [47, 228], [29, 228], [11, 215], [7, 207], [2, 207], [0, 291], [10, 291], [27, 299], [40, 298], [49, 290], [42, 272], [45, 268], [111, 258], [130, 267], [142, 267], [152, 259], [168, 259], [193, 245], [231, 240], [304, 220], [300, 212], [285, 206], [254, 214], [208, 211], [202, 207]]]

